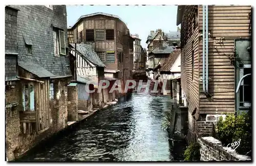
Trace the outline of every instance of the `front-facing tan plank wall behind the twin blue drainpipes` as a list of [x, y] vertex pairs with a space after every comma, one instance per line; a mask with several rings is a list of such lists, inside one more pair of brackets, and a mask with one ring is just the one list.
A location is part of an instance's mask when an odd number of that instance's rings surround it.
[[[250, 6], [208, 6], [208, 91], [213, 96], [206, 99], [200, 82], [200, 114], [234, 113], [235, 73], [229, 57], [234, 55], [234, 39], [248, 38]], [[199, 29], [203, 29], [203, 11], [199, 6]], [[224, 37], [222, 43], [218, 43]], [[225, 39], [226, 38], [226, 39]], [[202, 77], [202, 38], [200, 38], [200, 77]]]

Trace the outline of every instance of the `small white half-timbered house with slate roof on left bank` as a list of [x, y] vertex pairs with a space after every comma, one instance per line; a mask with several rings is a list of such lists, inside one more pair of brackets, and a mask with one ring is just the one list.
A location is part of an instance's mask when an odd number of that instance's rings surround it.
[[[86, 90], [86, 84], [89, 84], [89, 90], [97, 88], [99, 81], [104, 79], [105, 65], [99, 59], [91, 44], [69, 43], [71, 72], [74, 77], [72, 84], [68, 89], [77, 94], [76, 98], [70, 98], [71, 103], [76, 102], [69, 121], [77, 121], [78, 110], [90, 111], [93, 106], [99, 106], [103, 100], [103, 94], [89, 93]], [[91, 86], [90, 86], [91, 85]], [[74, 107], [74, 105], [71, 105]]]

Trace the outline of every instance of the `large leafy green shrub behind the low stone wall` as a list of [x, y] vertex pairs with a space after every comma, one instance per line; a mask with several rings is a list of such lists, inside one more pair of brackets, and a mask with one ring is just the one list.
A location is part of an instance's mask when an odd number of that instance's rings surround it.
[[237, 116], [228, 114], [225, 121], [220, 117], [217, 123], [216, 133], [217, 139], [219, 139], [224, 146], [241, 139], [240, 146], [236, 151], [239, 154], [245, 155], [251, 150], [251, 131], [251, 116], [247, 113], [239, 113]]

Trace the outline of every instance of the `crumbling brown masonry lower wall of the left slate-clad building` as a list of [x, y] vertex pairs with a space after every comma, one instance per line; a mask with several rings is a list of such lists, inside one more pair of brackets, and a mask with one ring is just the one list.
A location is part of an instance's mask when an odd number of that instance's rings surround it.
[[[10, 116], [10, 110], [6, 110], [6, 152], [7, 159], [19, 158], [28, 150], [37, 145], [41, 140], [50, 137], [52, 134], [64, 129], [68, 122], [67, 84], [68, 81], [55, 80], [54, 99], [50, 101], [50, 126], [46, 130], [33, 131], [31, 134], [24, 134], [20, 130], [19, 110], [22, 105], [15, 109], [15, 115]], [[14, 89], [6, 91], [6, 101], [20, 101], [21, 88], [19, 84]], [[21, 102], [19, 102], [21, 103]], [[13, 111], [12, 111], [13, 112]]]

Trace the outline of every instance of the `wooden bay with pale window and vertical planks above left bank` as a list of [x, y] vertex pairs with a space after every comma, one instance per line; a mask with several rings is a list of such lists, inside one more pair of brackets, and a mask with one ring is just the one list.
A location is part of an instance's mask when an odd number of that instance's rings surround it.
[[23, 110], [19, 111], [20, 123], [24, 134], [38, 133], [50, 127], [50, 78], [34, 78], [30, 74], [19, 68], [20, 80], [22, 84]]

